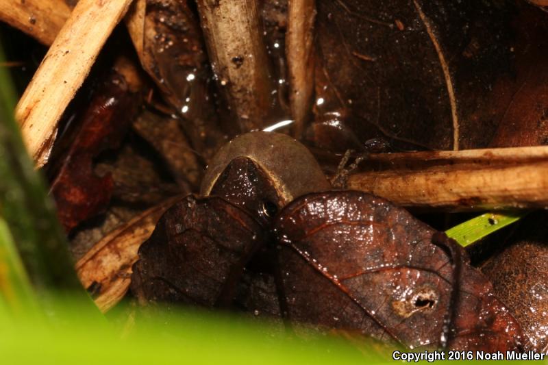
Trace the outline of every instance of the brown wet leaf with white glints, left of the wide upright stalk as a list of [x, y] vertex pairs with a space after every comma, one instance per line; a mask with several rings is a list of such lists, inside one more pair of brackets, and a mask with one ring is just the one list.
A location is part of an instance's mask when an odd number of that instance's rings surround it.
[[139, 57], [182, 118], [192, 147], [210, 158], [223, 142], [223, 132], [210, 93], [212, 73], [199, 19], [191, 6], [186, 0], [147, 0]]

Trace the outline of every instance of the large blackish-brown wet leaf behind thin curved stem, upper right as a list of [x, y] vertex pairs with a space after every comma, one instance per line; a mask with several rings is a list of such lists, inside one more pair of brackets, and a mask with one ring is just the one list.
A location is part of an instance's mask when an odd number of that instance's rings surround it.
[[469, 149], [543, 123], [542, 10], [495, 0], [336, 0], [317, 9], [308, 129], [316, 145], [356, 149], [383, 138], [397, 149]]

